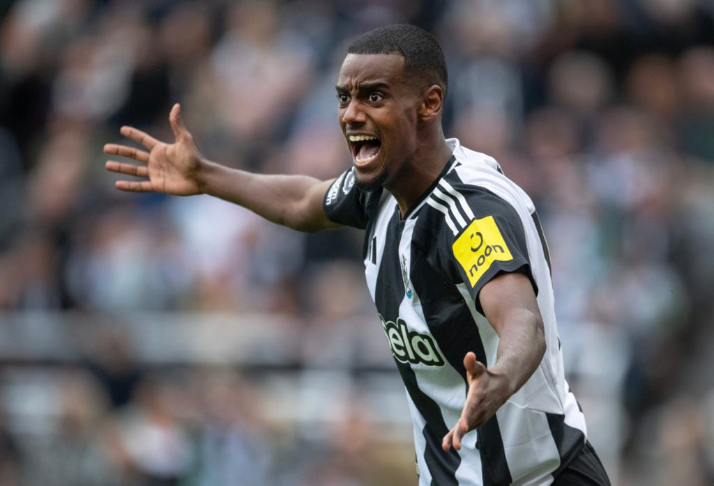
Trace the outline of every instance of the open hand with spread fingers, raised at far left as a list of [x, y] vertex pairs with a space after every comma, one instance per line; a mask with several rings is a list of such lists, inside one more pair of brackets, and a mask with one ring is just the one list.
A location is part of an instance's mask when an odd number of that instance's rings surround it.
[[193, 136], [183, 126], [181, 106], [176, 103], [171, 108], [169, 123], [174, 130], [174, 143], [164, 143], [141, 130], [121, 127], [121, 135], [144, 145], [149, 150], [139, 150], [126, 145], [108, 143], [104, 153], [128, 157], [144, 165], [125, 162], [106, 162], [106, 170], [119, 174], [144, 178], [144, 180], [118, 180], [116, 188], [131, 192], [163, 192], [176, 196], [191, 196], [201, 193], [198, 170], [201, 168], [201, 154]]

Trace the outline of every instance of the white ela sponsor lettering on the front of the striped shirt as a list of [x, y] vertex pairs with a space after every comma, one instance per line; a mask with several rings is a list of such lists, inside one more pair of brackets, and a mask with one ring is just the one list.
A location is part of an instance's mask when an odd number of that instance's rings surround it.
[[426, 366], [443, 366], [444, 360], [436, 347], [433, 336], [410, 331], [404, 319], [401, 318], [398, 318], [395, 323], [386, 321], [380, 314], [379, 320], [387, 335], [392, 354], [397, 361]]

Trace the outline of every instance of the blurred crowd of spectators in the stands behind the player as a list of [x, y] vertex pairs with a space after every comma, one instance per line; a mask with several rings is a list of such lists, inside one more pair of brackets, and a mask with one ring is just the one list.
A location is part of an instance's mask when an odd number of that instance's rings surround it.
[[[211, 160], [335, 177], [339, 65], [392, 22], [444, 48], [447, 136], [539, 208], [568, 379], [614, 484], [714, 482], [710, 0], [4, 0], [0, 485], [414, 483], [411, 431], [361, 400], [355, 370], [393, 372], [361, 234], [121, 193], [101, 152], [123, 124], [172, 140], [180, 102]], [[272, 339], [301, 352], [159, 366], [126, 337], [151, 329], [141, 313], [279, 316], [298, 331]], [[36, 331], [14, 334], [17, 316]], [[47, 321], [69, 359], [11, 352]], [[320, 433], [286, 410], [335, 395], [345, 413]]]

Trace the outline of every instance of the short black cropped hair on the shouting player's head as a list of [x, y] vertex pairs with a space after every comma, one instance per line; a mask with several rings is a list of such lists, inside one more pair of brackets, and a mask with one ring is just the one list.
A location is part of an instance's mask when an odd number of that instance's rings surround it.
[[348, 54], [398, 54], [404, 69], [441, 86], [446, 95], [446, 58], [436, 38], [421, 27], [391, 24], [363, 33], [347, 48]]

